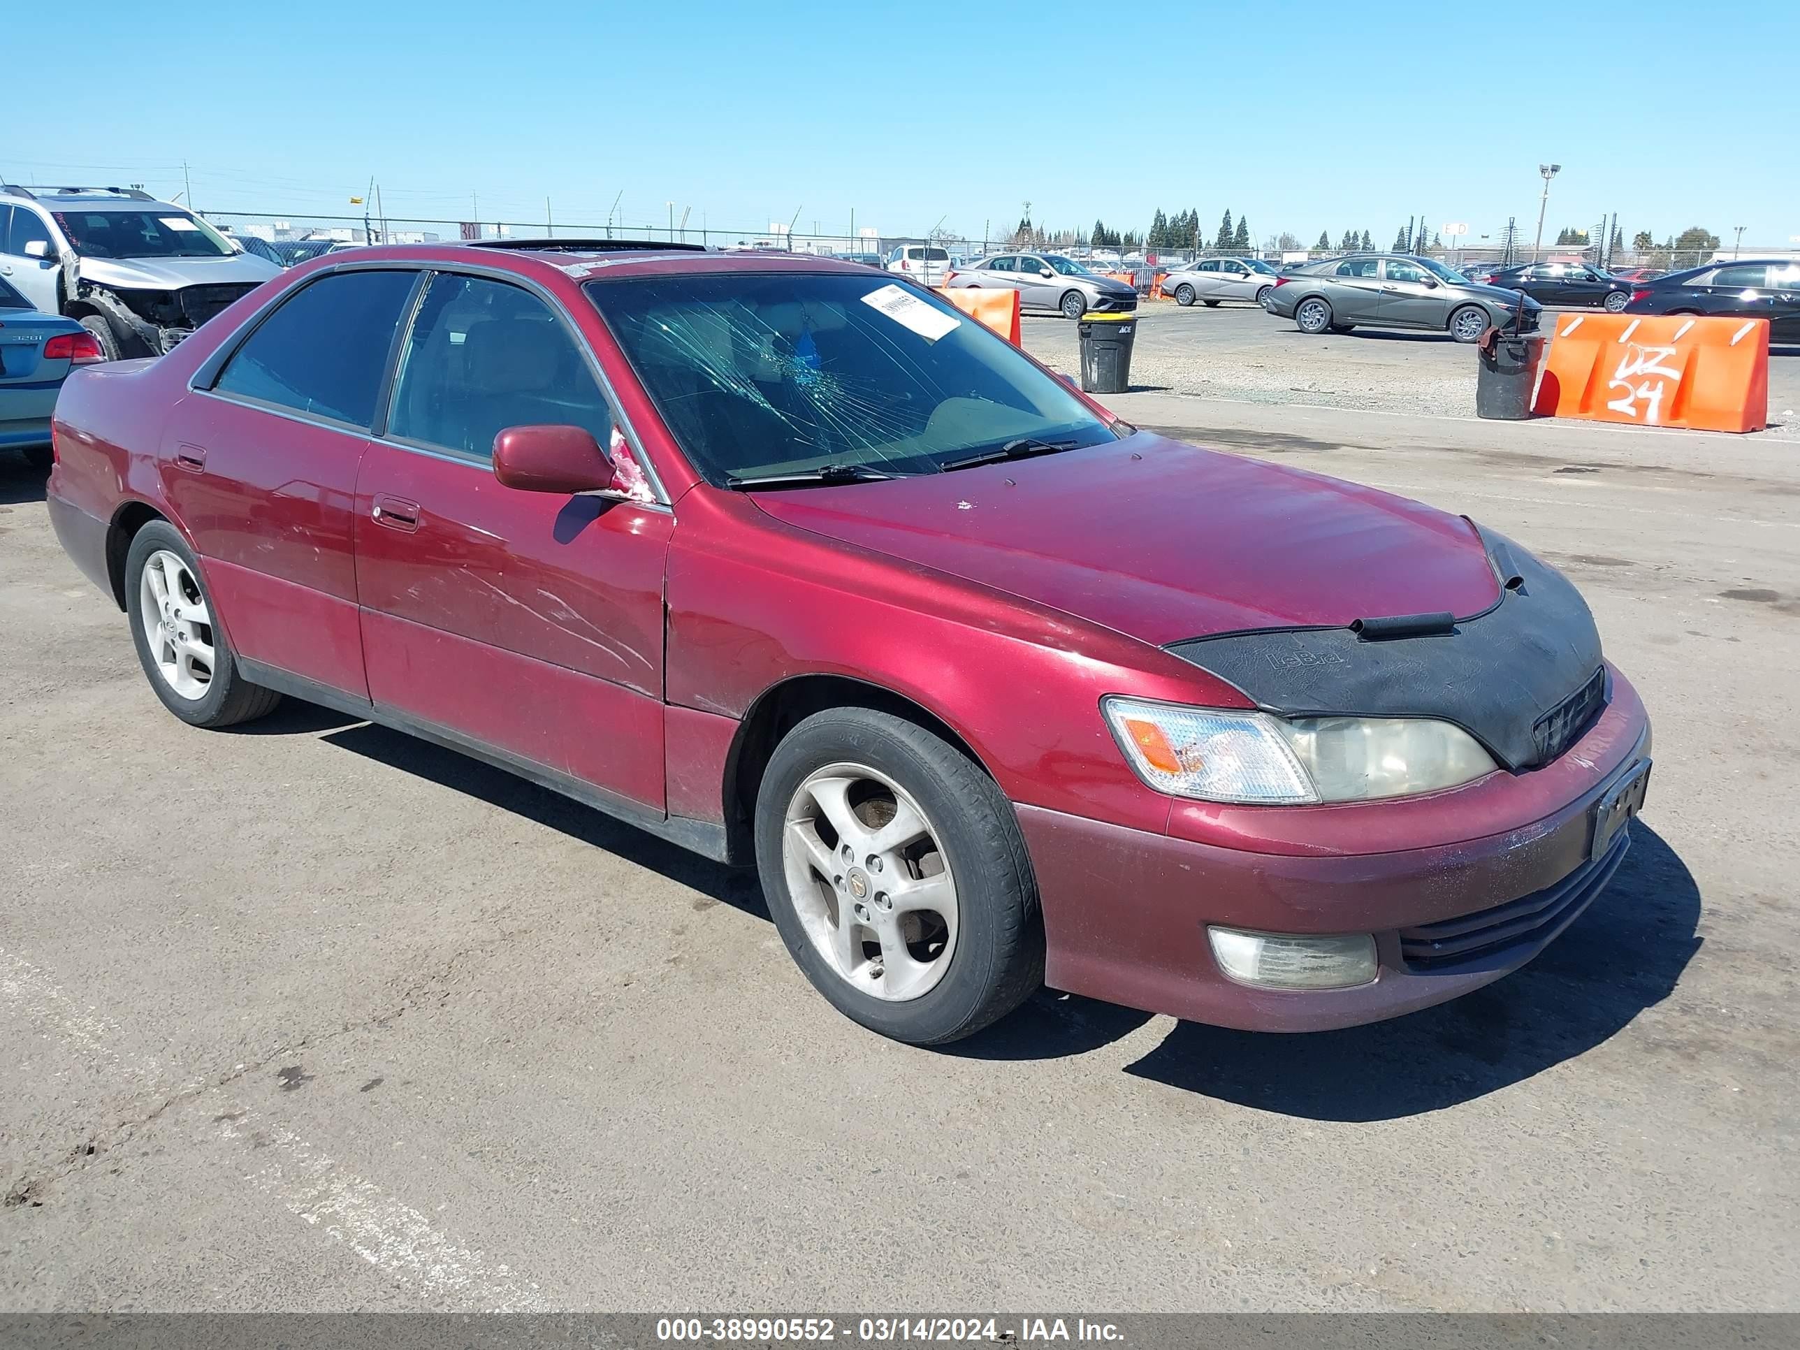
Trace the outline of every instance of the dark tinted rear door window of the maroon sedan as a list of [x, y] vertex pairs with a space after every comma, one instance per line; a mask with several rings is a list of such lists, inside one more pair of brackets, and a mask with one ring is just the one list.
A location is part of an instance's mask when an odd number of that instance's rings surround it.
[[257, 324], [218, 382], [232, 394], [367, 430], [418, 272], [337, 272]]

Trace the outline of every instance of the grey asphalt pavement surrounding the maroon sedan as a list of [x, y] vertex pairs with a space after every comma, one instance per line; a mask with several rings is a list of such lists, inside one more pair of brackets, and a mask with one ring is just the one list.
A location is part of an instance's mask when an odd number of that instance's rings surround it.
[[751, 875], [302, 704], [182, 725], [0, 457], [0, 1309], [1800, 1307], [1793, 445], [1109, 401], [1582, 585], [1656, 772], [1539, 961], [1325, 1035], [1046, 992], [889, 1044]]

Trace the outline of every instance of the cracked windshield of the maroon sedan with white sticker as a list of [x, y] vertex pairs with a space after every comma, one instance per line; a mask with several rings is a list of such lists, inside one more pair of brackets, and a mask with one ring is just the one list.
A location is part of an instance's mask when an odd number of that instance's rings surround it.
[[715, 484], [932, 473], [1116, 439], [1003, 338], [878, 275], [740, 272], [587, 292]]

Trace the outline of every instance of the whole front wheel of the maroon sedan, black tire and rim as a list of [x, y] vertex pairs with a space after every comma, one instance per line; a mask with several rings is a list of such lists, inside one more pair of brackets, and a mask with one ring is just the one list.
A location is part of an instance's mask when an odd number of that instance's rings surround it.
[[[878, 842], [902, 812], [920, 832]], [[756, 796], [756, 866], [801, 974], [884, 1037], [959, 1040], [1044, 983], [1037, 882], [1012, 803], [959, 749], [891, 713], [826, 709], [776, 745]], [[896, 904], [905, 891], [918, 909]]]

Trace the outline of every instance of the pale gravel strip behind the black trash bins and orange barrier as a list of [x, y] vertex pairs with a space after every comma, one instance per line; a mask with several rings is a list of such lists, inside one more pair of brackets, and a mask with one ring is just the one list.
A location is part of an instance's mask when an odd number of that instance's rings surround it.
[[[1476, 353], [1438, 333], [1359, 328], [1309, 338], [1251, 304], [1183, 310], [1145, 302], [1132, 349], [1132, 389], [1249, 403], [1314, 403], [1381, 412], [1474, 416]], [[1024, 346], [1075, 373], [1075, 324], [1026, 317]], [[1800, 347], [1769, 356], [1768, 437], [1800, 439]]]

